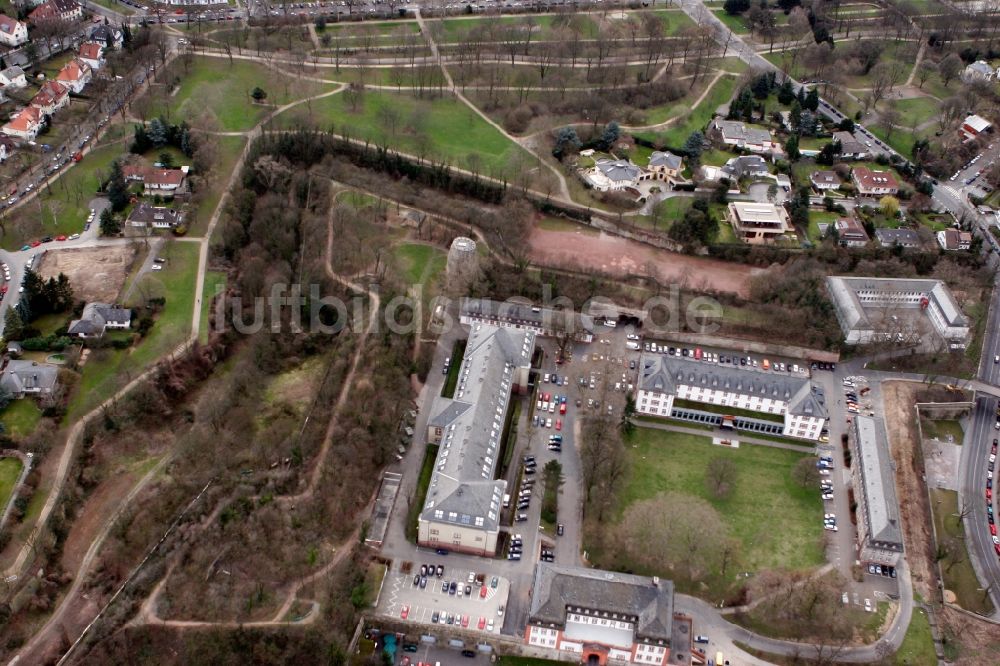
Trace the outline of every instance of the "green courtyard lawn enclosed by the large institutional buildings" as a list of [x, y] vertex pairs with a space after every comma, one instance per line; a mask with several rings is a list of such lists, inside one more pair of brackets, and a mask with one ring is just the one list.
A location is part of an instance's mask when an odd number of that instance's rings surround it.
[[[708, 437], [638, 428], [627, 444], [631, 476], [620, 492], [620, 506], [664, 491], [707, 500], [742, 543], [748, 571], [799, 569], [823, 562], [823, 503], [815, 488], [802, 488], [791, 475], [803, 454], [743, 444], [739, 449], [713, 446]], [[705, 487], [710, 459], [736, 461], [739, 476], [727, 499]]]

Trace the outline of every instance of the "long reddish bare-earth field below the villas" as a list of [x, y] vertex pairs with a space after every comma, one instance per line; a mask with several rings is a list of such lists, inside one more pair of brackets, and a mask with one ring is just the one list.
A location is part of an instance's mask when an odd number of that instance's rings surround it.
[[542, 265], [596, 268], [615, 276], [655, 274], [661, 282], [677, 283], [681, 288], [726, 292], [744, 298], [750, 294], [750, 278], [763, 270], [659, 250], [603, 232], [535, 227], [530, 243], [532, 260]]

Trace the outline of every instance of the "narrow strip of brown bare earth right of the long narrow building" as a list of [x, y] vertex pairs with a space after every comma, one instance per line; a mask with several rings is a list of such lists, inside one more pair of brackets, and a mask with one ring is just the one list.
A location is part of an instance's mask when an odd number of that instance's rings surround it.
[[920, 446], [913, 403], [921, 384], [884, 382], [882, 404], [885, 407], [885, 429], [889, 433], [889, 450], [896, 462], [896, 495], [903, 521], [906, 561], [910, 565], [913, 590], [927, 601], [937, 601], [937, 573], [934, 570], [934, 535], [931, 531], [931, 509], [923, 476]]

